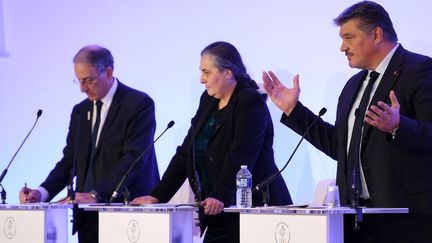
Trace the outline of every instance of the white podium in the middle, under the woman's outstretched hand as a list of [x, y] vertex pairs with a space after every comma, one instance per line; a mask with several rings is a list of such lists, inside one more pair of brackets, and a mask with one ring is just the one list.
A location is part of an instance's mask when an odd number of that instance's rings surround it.
[[191, 243], [192, 206], [154, 204], [142, 206], [88, 205], [99, 211], [99, 242]]

